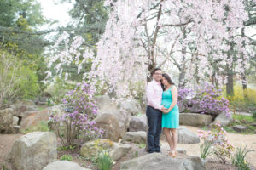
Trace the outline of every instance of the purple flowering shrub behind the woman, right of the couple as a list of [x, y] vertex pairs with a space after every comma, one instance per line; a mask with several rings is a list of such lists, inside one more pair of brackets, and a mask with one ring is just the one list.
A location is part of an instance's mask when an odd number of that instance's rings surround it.
[[[195, 97], [191, 98], [192, 96]], [[178, 100], [187, 104], [186, 107], [194, 105], [196, 112], [213, 116], [224, 111], [229, 116], [229, 100], [221, 96], [222, 90], [208, 83], [204, 83], [195, 90], [188, 88], [178, 90]]]

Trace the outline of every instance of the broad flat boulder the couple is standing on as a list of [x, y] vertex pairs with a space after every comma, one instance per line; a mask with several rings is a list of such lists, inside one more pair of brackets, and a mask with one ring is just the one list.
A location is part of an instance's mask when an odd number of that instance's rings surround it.
[[198, 156], [172, 158], [160, 153], [137, 157], [121, 164], [120, 170], [205, 170], [206, 162]]

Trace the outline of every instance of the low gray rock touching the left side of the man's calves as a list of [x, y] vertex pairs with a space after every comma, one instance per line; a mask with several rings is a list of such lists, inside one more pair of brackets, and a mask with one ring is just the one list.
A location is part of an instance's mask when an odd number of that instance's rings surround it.
[[147, 133], [143, 131], [127, 132], [121, 142], [124, 143], [125, 141], [136, 144], [146, 144]]

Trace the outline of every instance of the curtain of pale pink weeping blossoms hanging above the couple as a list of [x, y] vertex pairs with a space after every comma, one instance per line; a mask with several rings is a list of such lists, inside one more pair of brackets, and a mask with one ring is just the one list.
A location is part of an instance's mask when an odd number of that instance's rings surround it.
[[[212, 75], [209, 58], [231, 65], [232, 59], [226, 53], [230, 50], [229, 41], [247, 20], [241, 0], [107, 0], [105, 3], [111, 4], [113, 10], [87, 76], [90, 80], [102, 80], [102, 84], [107, 82], [108, 92], [114, 90], [118, 96], [129, 95], [132, 88], [129, 82], [146, 81], [148, 65], [159, 62], [157, 49], [170, 51], [173, 47], [172, 54], [180, 62], [182, 48], [186, 47], [186, 55], [190, 56], [186, 78], [190, 80], [195, 73], [201, 78]], [[153, 31], [147, 26], [154, 26]], [[160, 33], [154, 34], [156, 29], [163, 32], [161, 40]], [[187, 32], [185, 37], [183, 31]], [[236, 41], [242, 42], [244, 38], [236, 37]], [[177, 43], [172, 46], [172, 42]], [[248, 56], [241, 43], [236, 46], [240, 47], [239, 53]]]

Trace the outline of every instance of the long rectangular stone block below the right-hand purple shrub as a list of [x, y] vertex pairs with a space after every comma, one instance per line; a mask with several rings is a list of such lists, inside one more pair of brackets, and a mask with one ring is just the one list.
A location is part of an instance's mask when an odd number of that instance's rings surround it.
[[212, 116], [196, 113], [180, 113], [179, 123], [181, 125], [204, 127], [212, 122]]

